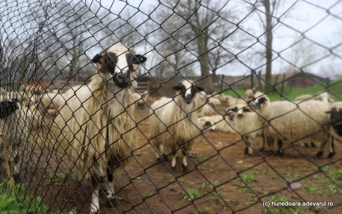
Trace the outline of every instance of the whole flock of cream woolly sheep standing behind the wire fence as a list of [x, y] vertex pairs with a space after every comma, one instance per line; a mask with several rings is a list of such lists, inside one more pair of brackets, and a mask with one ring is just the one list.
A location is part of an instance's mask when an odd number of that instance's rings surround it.
[[[16, 182], [20, 182], [21, 144], [28, 140], [32, 129], [46, 129], [46, 137], [56, 140], [53, 149], [60, 151], [59, 158], [71, 163], [70, 171], [79, 179], [91, 179], [91, 213], [100, 208], [99, 184], [105, 176], [107, 200], [114, 205], [113, 173], [124, 169], [138, 148], [133, 115], [136, 108], [145, 108], [149, 92], [138, 94], [133, 77], [138, 65], [146, 60], [116, 44], [92, 59], [99, 72], [87, 85], [71, 87], [63, 94], [26, 91], [15, 96], [3, 95], [1, 132], [4, 142], [10, 145], [8, 156], [15, 159], [12, 174]], [[149, 106], [149, 142], [157, 159], [167, 160], [171, 155], [173, 173], [178, 155], [182, 156], [183, 172], [189, 172], [187, 158], [192, 154], [196, 137], [206, 131], [239, 133], [249, 155], [256, 150], [256, 137], [261, 138], [260, 150], [265, 144], [271, 150], [278, 145], [278, 155], [283, 153], [283, 143], [308, 139], [321, 143], [317, 157], [322, 156], [328, 141], [328, 157], [334, 156], [331, 133], [342, 134], [342, 105], [331, 103], [328, 93], [299, 97], [294, 102], [271, 102], [267, 95], [255, 90], [247, 90], [245, 98], [207, 95], [189, 80], [174, 85], [173, 90], [175, 97], [161, 97]], [[320, 100], [312, 100], [315, 98]], [[222, 102], [228, 107], [224, 115], [215, 108]], [[45, 121], [47, 116], [53, 116], [50, 122]]]

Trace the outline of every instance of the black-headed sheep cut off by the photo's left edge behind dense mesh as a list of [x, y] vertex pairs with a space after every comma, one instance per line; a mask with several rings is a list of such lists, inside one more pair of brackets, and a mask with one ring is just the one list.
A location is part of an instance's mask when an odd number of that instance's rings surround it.
[[[21, 104], [18, 99], [6, 99], [0, 102], [0, 132], [3, 140], [0, 142], [0, 163], [8, 156], [15, 183], [20, 183], [20, 166], [22, 162], [23, 146], [29, 137], [29, 111], [26, 105]], [[4, 151], [4, 145], [7, 151]]]

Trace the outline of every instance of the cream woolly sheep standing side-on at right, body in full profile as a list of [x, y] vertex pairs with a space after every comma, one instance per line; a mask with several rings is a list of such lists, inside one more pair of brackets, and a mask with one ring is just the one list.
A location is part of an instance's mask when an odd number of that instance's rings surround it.
[[[278, 140], [278, 146], [281, 148], [282, 141], [286, 138], [294, 141], [311, 136], [313, 140], [321, 142], [316, 157], [322, 156], [324, 146], [330, 139], [329, 133], [324, 129], [321, 130], [321, 125], [329, 121], [329, 117], [325, 114], [330, 109], [329, 103], [317, 100], [308, 100], [299, 104], [289, 101], [269, 102], [265, 97], [259, 97], [256, 98], [253, 108], [265, 118], [265, 125], [269, 121], [269, 125], [264, 129], [266, 139], [272, 138], [275, 142]], [[326, 128], [329, 129], [330, 125], [326, 125]], [[334, 153], [330, 150], [328, 157], [332, 157]], [[282, 154], [283, 151], [278, 151], [279, 156]]]

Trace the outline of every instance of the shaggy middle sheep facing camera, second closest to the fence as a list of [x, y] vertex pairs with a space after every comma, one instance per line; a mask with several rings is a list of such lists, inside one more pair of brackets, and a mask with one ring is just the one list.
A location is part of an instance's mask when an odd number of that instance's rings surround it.
[[[172, 99], [161, 99], [153, 102], [150, 114], [151, 145], [160, 149], [157, 159], [164, 156], [164, 146], [171, 148], [171, 171], [176, 172], [177, 148], [183, 151], [183, 172], [189, 172], [186, 155], [192, 149], [194, 137], [200, 134], [197, 120], [198, 103], [201, 102], [196, 94], [204, 89], [195, 86], [188, 80], [173, 86], [177, 95]], [[177, 142], [179, 141], [180, 144]]]

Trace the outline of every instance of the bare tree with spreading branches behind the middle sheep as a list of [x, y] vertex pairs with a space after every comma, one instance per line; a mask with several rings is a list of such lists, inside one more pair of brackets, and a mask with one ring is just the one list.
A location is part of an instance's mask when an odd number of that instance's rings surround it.
[[[192, 0], [170, 0], [164, 3], [166, 7], [163, 7], [164, 10], [159, 14], [166, 20], [163, 22], [163, 29], [169, 36], [171, 35], [171, 39], [176, 40], [175, 43], [179, 44], [165, 42], [165, 47], [178, 48], [179, 46], [196, 54], [195, 57], [200, 63], [201, 77], [204, 78], [204, 86], [209, 92], [214, 91], [212, 72], [221, 60], [229, 59], [226, 51], [219, 47], [221, 43], [218, 42], [228, 36], [230, 25], [226, 20], [219, 19], [217, 12], [220, 11], [222, 17], [233, 16], [233, 13], [227, 8], [222, 8], [221, 3], [218, 0], [202, 0], [200, 4]], [[170, 16], [170, 10], [175, 11], [177, 15]], [[233, 39], [233, 36], [230, 39]], [[179, 59], [185, 59], [185, 57], [184, 54], [183, 56], [175, 54], [174, 60], [179, 62]], [[190, 56], [187, 60], [190, 64], [196, 59]]]

